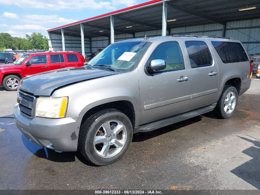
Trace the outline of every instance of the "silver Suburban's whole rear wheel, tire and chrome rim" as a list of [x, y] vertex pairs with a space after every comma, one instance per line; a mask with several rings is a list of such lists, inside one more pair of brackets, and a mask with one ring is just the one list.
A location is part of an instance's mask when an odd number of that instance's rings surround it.
[[222, 94], [218, 100], [218, 104], [214, 109], [214, 113], [222, 118], [229, 118], [234, 114], [237, 108], [238, 102], [238, 91], [235, 87], [230, 85], [225, 85]]

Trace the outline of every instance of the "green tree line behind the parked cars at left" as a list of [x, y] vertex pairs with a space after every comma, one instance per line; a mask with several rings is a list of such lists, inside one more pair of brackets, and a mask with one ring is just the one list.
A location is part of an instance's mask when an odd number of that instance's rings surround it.
[[8, 33], [0, 33], [0, 50], [30, 50], [30, 49], [49, 49], [48, 39], [42, 33], [34, 32], [26, 34], [26, 38], [12, 37]]

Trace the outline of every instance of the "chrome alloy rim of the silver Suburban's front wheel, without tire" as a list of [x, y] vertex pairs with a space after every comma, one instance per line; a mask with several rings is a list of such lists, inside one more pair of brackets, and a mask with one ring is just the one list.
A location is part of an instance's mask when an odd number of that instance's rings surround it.
[[107, 121], [101, 125], [94, 136], [94, 151], [102, 158], [111, 158], [123, 149], [126, 138], [126, 126], [121, 121]]

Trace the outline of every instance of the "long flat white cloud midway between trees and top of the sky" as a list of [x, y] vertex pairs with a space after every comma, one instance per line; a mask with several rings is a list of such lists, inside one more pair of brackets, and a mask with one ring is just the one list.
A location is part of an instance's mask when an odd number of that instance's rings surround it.
[[72, 22], [76, 22], [77, 20], [74, 19], [66, 19], [66, 18], [62, 18], [62, 17], [58, 17], [58, 15], [37, 15], [37, 14], [32, 14], [32, 15], [23, 15], [23, 18], [21, 19], [21, 21], [23, 22], [27, 22], [27, 23], [46, 23], [46, 24], [50, 24], [50, 23], [64, 23], [64, 24], [68, 24], [68, 23], [72, 23]]

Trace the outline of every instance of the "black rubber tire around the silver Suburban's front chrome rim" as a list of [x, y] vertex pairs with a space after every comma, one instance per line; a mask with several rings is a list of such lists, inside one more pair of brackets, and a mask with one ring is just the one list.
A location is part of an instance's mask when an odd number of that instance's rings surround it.
[[[99, 156], [96, 152], [96, 148], [94, 149], [94, 137], [97, 135], [96, 133], [102, 124], [105, 124], [107, 121], [111, 120], [118, 120], [122, 122], [126, 127], [125, 132], [127, 136], [124, 142], [125, 144], [122, 146], [120, 152], [115, 156], [105, 158]], [[116, 109], [105, 109], [92, 114], [83, 122], [78, 136], [78, 148], [82, 155], [91, 163], [99, 166], [109, 165], [122, 158], [126, 150], [129, 148], [132, 138], [133, 127], [129, 118], [123, 112]], [[102, 145], [103, 144], [104, 143], [102, 143]]]

